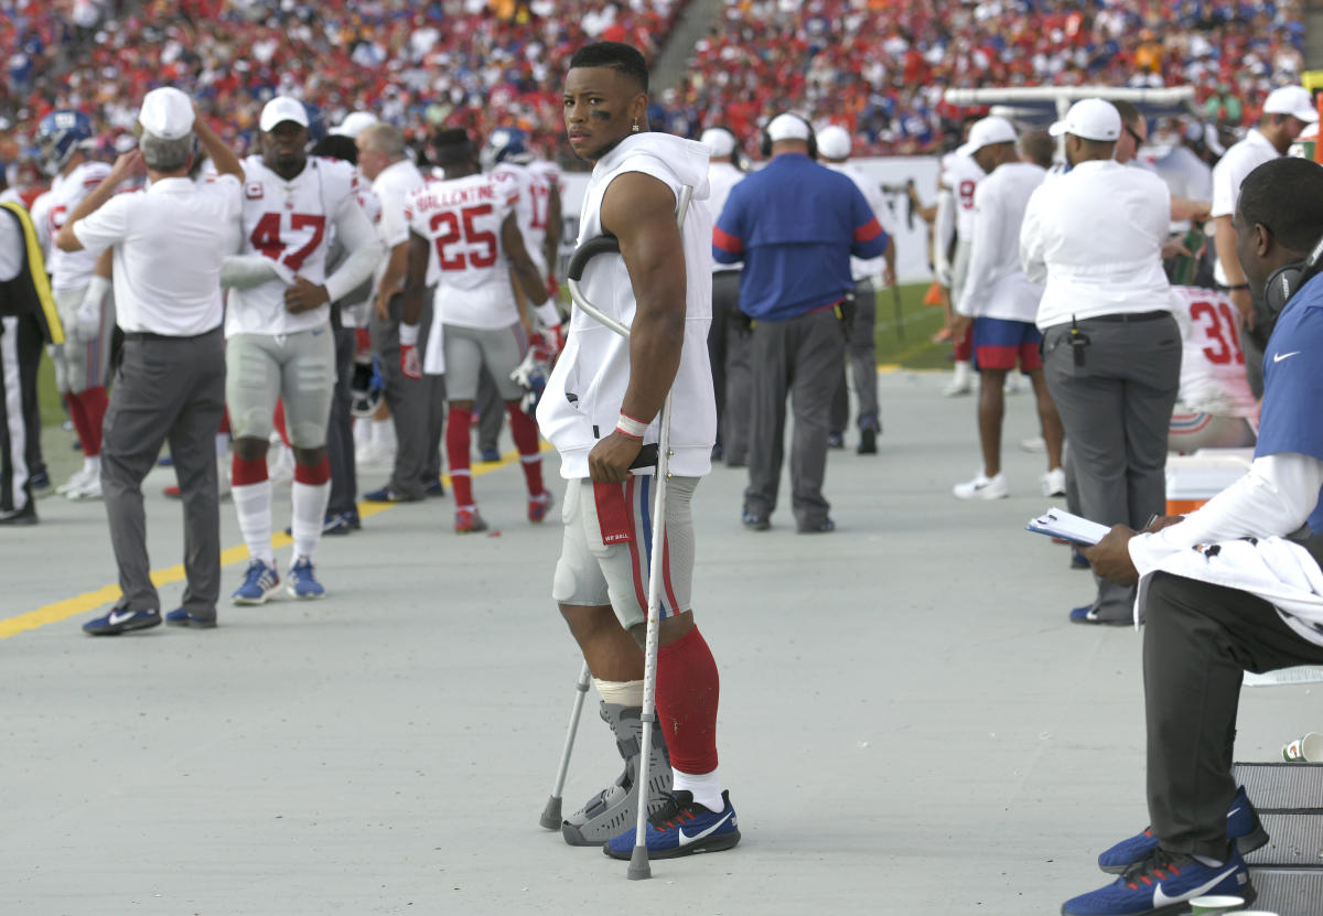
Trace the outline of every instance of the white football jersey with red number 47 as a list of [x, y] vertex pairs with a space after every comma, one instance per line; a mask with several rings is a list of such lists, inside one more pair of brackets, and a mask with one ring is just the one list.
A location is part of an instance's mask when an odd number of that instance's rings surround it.
[[[292, 181], [262, 164], [243, 160], [243, 225], [239, 254], [263, 254], [280, 265], [282, 277], [321, 285], [333, 224], [357, 208], [357, 172], [349, 163], [310, 156]], [[226, 304], [225, 334], [295, 334], [324, 327], [331, 308], [298, 315], [284, 308], [284, 279], [233, 289]]]

